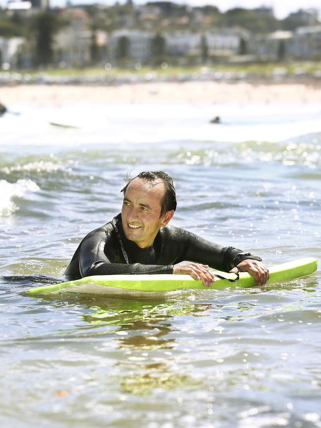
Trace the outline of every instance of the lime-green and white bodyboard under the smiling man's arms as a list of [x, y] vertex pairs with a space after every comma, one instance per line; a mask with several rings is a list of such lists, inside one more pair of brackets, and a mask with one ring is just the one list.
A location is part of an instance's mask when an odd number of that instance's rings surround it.
[[[305, 258], [269, 267], [269, 284], [274, 282], [285, 282], [300, 276], [313, 273], [318, 268], [318, 260]], [[235, 279], [235, 273], [215, 271], [225, 278]], [[217, 279], [213, 282], [214, 289], [226, 287], [254, 287], [256, 286], [253, 276], [247, 272], [240, 273], [237, 282], [228, 279]], [[196, 280], [190, 275], [94, 275], [60, 284], [50, 284], [41, 287], [30, 288], [27, 293], [32, 295], [52, 294], [59, 292], [86, 293], [86, 294], [130, 294], [139, 292], [166, 292], [181, 289], [208, 289], [201, 280]]]

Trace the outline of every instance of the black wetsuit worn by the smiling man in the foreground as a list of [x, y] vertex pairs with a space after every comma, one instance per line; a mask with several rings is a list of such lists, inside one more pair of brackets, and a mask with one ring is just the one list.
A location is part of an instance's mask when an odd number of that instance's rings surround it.
[[80, 242], [64, 274], [81, 278], [124, 273], [173, 273], [173, 265], [183, 261], [198, 262], [228, 272], [242, 260], [262, 260], [248, 253], [246, 256], [240, 255], [242, 250], [222, 247], [173, 226], [161, 228], [151, 248], [140, 248], [125, 237], [121, 214], [115, 217], [115, 224], [119, 236], [112, 222], [88, 233]]

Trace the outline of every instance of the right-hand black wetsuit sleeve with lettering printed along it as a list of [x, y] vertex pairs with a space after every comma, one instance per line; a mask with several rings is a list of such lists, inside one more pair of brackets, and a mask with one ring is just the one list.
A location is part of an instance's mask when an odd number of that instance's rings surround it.
[[176, 237], [179, 237], [182, 248], [182, 253], [177, 263], [187, 260], [209, 265], [214, 269], [228, 272], [242, 260], [262, 260], [260, 257], [253, 256], [249, 253], [246, 253], [246, 256], [242, 256], [243, 251], [238, 248], [231, 246], [223, 247], [222, 245], [207, 241], [192, 232], [188, 232], [184, 229], [175, 229]]

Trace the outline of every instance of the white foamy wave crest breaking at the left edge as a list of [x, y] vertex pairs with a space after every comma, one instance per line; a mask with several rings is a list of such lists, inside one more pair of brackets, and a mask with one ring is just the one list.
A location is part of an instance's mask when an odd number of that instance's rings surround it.
[[13, 202], [14, 197], [22, 197], [27, 192], [38, 192], [40, 188], [32, 180], [18, 180], [16, 183], [8, 183], [0, 180], [0, 217], [8, 217], [19, 207]]

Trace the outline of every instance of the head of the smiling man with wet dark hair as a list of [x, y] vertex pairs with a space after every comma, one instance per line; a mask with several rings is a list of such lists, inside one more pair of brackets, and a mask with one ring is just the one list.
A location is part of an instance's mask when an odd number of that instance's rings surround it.
[[150, 247], [176, 209], [172, 179], [162, 171], [141, 172], [132, 179], [127, 178], [121, 192], [124, 196], [121, 218], [126, 238], [141, 248]]

